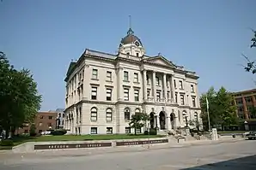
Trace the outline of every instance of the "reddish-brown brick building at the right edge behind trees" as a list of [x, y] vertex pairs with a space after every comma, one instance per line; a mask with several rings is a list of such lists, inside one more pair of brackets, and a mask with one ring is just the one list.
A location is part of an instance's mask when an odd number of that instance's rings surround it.
[[240, 119], [240, 129], [256, 130], [256, 89], [237, 91], [233, 93], [234, 103], [237, 106], [237, 116]]

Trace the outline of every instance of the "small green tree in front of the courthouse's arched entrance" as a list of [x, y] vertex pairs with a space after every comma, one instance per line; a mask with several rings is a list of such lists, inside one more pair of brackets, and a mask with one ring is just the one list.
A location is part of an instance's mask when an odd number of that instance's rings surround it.
[[131, 115], [131, 122], [129, 123], [129, 126], [134, 128], [135, 135], [137, 135], [136, 130], [145, 126], [146, 121], [149, 119], [149, 115], [146, 113], [135, 113]]

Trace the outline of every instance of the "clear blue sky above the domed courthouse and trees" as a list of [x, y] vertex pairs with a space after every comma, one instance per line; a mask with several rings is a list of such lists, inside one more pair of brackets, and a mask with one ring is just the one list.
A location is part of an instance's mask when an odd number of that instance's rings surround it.
[[245, 54], [255, 59], [255, 0], [3, 0], [0, 50], [15, 68], [34, 74], [41, 110], [64, 108], [64, 78], [85, 49], [115, 54], [131, 26], [147, 55], [162, 56], [198, 76], [200, 93], [255, 87]]

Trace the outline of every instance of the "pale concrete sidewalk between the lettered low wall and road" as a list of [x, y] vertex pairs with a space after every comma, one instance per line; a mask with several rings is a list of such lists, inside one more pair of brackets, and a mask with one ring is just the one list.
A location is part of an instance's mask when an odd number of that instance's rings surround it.
[[141, 152], [149, 149], [171, 149], [180, 147], [190, 147], [204, 144], [222, 144], [222, 143], [234, 143], [238, 141], [245, 140], [245, 138], [221, 138], [216, 141], [211, 140], [195, 140], [195, 141], [185, 141], [180, 143], [171, 142], [168, 144], [145, 144], [125, 146], [125, 147], [115, 147], [115, 148], [90, 148], [90, 149], [62, 149], [62, 150], [42, 150], [35, 151], [34, 153], [24, 153], [15, 154], [11, 150], [0, 151], [0, 161], [4, 159], [14, 159], [14, 158], [35, 158], [44, 156], [51, 159], [53, 156], [87, 156], [87, 155], [101, 155], [105, 153], [113, 152]]

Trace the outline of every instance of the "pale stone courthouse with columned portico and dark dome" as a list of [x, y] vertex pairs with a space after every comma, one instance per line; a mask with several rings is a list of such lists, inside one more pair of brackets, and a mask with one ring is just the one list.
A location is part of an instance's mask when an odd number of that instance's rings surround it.
[[131, 115], [149, 114], [160, 132], [200, 120], [198, 75], [162, 55], [147, 56], [130, 28], [118, 54], [85, 50], [70, 62], [64, 128], [73, 134], [130, 133]]

